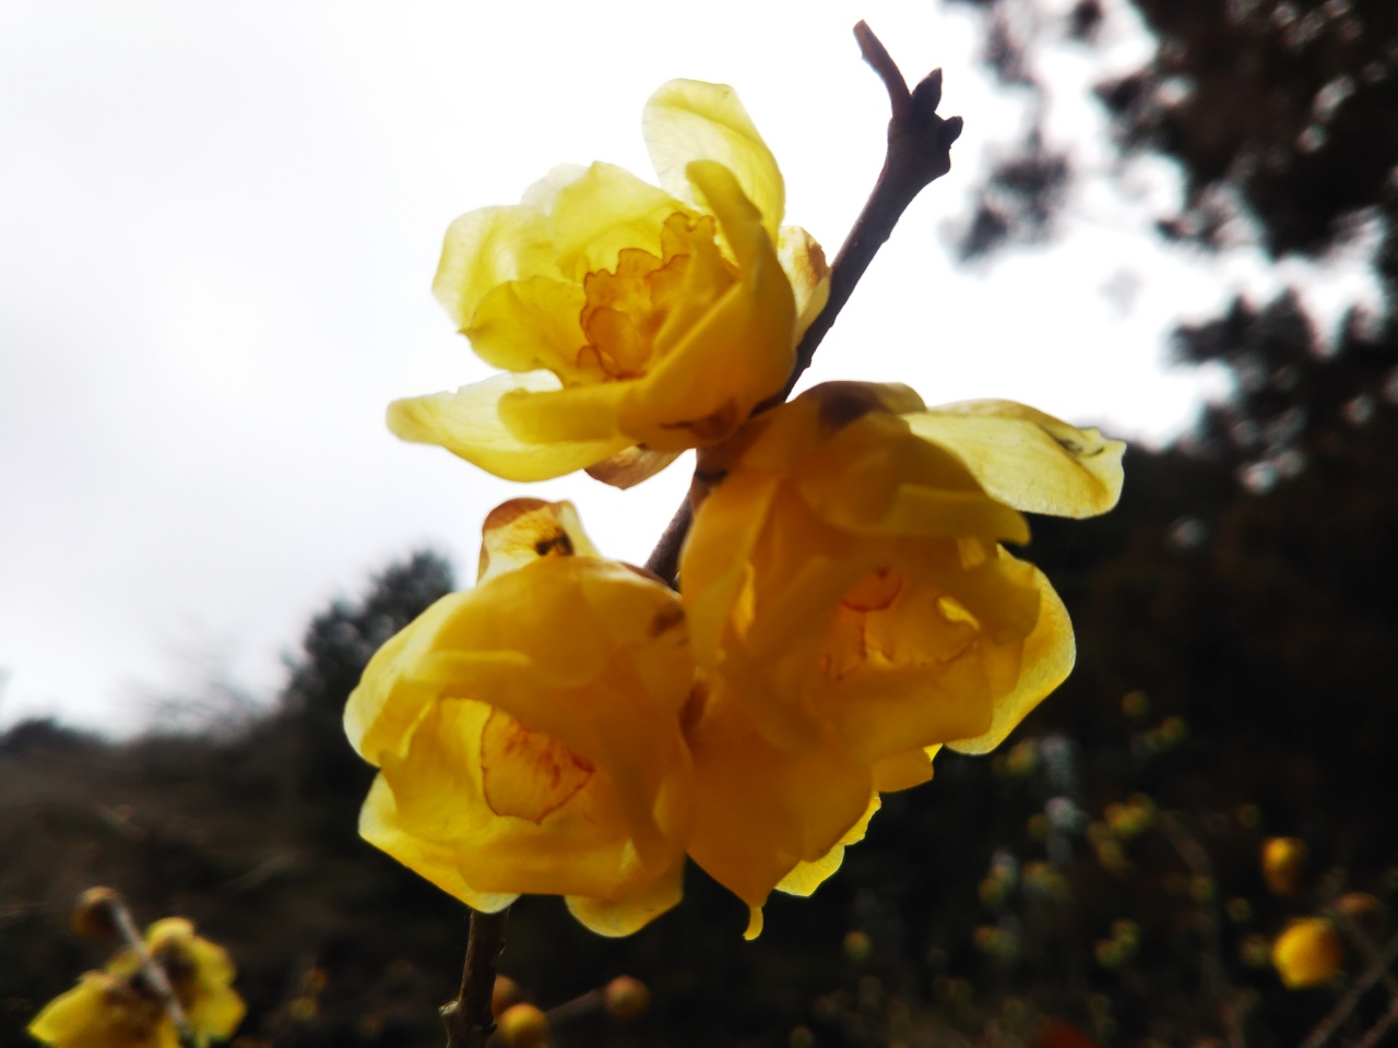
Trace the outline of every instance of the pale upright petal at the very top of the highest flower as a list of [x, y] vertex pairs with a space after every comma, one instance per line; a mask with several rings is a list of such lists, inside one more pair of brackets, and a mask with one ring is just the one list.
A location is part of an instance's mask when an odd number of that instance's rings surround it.
[[726, 84], [671, 80], [650, 101], [642, 133], [660, 184], [698, 204], [685, 169], [692, 161], [717, 161], [728, 168], [744, 194], [762, 212], [774, 242], [786, 211], [786, 184], [772, 151], [754, 127], [737, 92]]

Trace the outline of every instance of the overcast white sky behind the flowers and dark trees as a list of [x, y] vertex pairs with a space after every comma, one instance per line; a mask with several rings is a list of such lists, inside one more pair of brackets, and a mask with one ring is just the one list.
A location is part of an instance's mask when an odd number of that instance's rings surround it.
[[[393, 397], [487, 373], [429, 293], [442, 232], [559, 162], [650, 176], [640, 106], [684, 75], [738, 89], [788, 221], [833, 254], [886, 120], [858, 18], [910, 80], [945, 67], [941, 112], [966, 133], [809, 380], [1009, 397], [1162, 442], [1209, 381], [1162, 367], [1181, 317], [1285, 277], [1335, 316], [1363, 286], [1355, 263], [1279, 275], [1246, 247], [1163, 246], [1163, 163], [1125, 194], [1089, 180], [1054, 246], [956, 271], [941, 229], [1029, 109], [977, 67], [974, 15], [934, 0], [6, 0], [0, 725], [130, 731], [201, 674], [270, 694], [313, 611], [419, 545], [467, 576], [481, 518], [514, 495], [573, 499], [608, 553], [643, 559], [682, 468], [625, 495], [524, 489], [383, 428]], [[1149, 53], [1124, 15], [1109, 41], [1109, 67]], [[1050, 63], [1051, 138], [1104, 170], [1102, 56]], [[1130, 309], [1109, 286], [1135, 286]]]

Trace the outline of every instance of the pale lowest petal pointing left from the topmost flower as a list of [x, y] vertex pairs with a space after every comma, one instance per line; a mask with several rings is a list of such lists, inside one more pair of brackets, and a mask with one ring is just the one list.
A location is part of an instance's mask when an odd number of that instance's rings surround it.
[[496, 374], [456, 393], [396, 400], [389, 429], [403, 440], [440, 444], [468, 463], [506, 481], [547, 481], [610, 458], [633, 442], [624, 436], [562, 437], [547, 443], [521, 440], [500, 419], [500, 400], [531, 398], [558, 390], [549, 372]]

